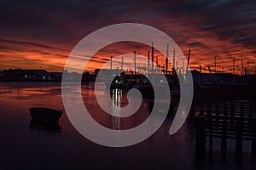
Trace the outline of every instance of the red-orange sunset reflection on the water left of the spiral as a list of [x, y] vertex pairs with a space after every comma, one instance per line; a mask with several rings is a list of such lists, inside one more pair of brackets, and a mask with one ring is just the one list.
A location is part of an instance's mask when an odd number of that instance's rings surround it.
[[26, 108], [41, 106], [62, 110], [61, 83], [42, 82], [2, 82], [0, 83], [0, 101]]

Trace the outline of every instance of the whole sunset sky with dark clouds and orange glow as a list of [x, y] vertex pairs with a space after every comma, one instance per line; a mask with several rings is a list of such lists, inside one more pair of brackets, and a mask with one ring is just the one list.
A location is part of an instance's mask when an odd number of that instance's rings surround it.
[[[74, 46], [104, 26], [139, 23], [153, 26], [177, 43], [190, 68], [207, 68], [217, 59], [217, 71], [232, 72], [249, 64], [256, 69], [256, 1], [79, 1], [2, 0], [0, 2], [0, 70], [9, 68], [62, 71]], [[102, 48], [87, 71], [100, 68], [110, 56], [133, 53], [147, 57], [150, 47], [120, 42]], [[170, 52], [171, 54], [172, 52]], [[161, 58], [161, 54], [159, 58]], [[160, 65], [164, 59], [159, 59]], [[132, 59], [125, 60], [127, 68]], [[140, 65], [143, 65], [141, 63]], [[119, 67], [114, 62], [113, 67]]]

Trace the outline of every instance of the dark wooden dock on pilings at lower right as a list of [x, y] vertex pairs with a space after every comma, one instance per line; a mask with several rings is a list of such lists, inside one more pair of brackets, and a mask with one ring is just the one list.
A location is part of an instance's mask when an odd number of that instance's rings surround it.
[[213, 139], [221, 139], [222, 161], [226, 160], [227, 139], [236, 140], [237, 160], [241, 159], [243, 140], [252, 141], [252, 153], [256, 155], [256, 115], [251, 103], [197, 105], [192, 112], [195, 116], [195, 150], [198, 156], [205, 156], [207, 138], [210, 157]]

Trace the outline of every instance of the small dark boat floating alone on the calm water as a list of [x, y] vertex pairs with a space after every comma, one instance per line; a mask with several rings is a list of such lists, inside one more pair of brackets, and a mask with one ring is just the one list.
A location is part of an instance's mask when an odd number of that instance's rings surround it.
[[44, 107], [32, 107], [29, 109], [30, 116], [33, 120], [57, 122], [62, 116], [63, 111], [55, 111]]

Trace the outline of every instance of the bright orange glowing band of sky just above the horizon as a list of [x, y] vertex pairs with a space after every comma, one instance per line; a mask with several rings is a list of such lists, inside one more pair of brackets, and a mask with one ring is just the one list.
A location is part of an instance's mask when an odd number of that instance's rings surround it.
[[[229, 42], [214, 40], [205, 41], [203, 38], [195, 39], [195, 41], [204, 42], [204, 47], [191, 47], [190, 55], [190, 70], [199, 70], [199, 65], [202, 65], [203, 71], [207, 71], [207, 65], [211, 65], [214, 71], [214, 56], [217, 58], [217, 71], [232, 72], [233, 71], [233, 59], [236, 59], [236, 65], [241, 67], [241, 59], [243, 59], [244, 67], [247, 67], [247, 59], [249, 61], [250, 73], [254, 73], [256, 63], [255, 57], [251, 54], [250, 49], [244, 48], [241, 45], [230, 45]], [[188, 56], [189, 47], [183, 44], [178, 44], [183, 50], [183, 54]], [[26, 44], [17, 44], [12, 46], [12, 50], [3, 50], [0, 52], [2, 62], [0, 63], [0, 70], [3, 69], [44, 69], [47, 71], [62, 71], [65, 65], [67, 56], [72, 50], [72, 47], [62, 50], [59, 47], [55, 47], [55, 44], [48, 44], [49, 47], [35, 47]], [[17, 50], [15, 50], [15, 48]], [[121, 54], [132, 54], [136, 51], [137, 54], [148, 58], [148, 51], [151, 53], [151, 47], [137, 43], [137, 42], [118, 42], [110, 44], [105, 48], [98, 51], [92, 59], [85, 71], [93, 72], [95, 69], [101, 68], [104, 63], [110, 60], [110, 56], [113, 56], [113, 68], [120, 67], [120, 61], [114, 60], [115, 56]], [[169, 49], [169, 55], [172, 57], [172, 49]], [[155, 51], [154, 62], [158, 57], [159, 65], [165, 65], [164, 55]], [[150, 54], [151, 59], [151, 54]], [[138, 66], [147, 66], [147, 63], [138, 61]], [[172, 63], [172, 60], [170, 60]], [[125, 70], [128, 68], [133, 69], [133, 59], [126, 59], [124, 61]], [[182, 65], [179, 63], [179, 65]], [[169, 65], [169, 71], [171, 71], [171, 65]], [[236, 66], [236, 74], [239, 71]]]

